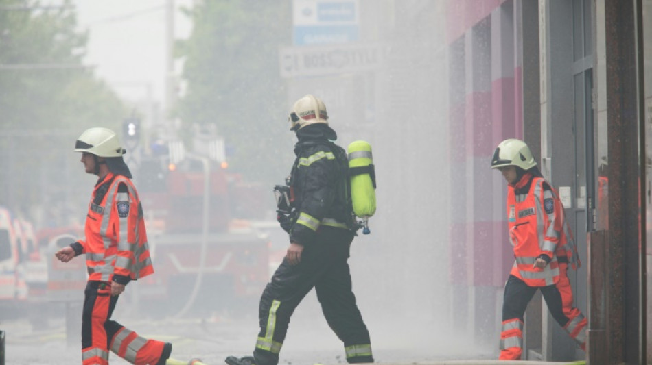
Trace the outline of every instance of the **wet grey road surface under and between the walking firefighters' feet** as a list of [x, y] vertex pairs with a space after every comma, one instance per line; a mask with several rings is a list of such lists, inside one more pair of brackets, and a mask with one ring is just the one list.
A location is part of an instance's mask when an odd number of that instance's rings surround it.
[[[321, 309], [313, 303], [314, 299], [306, 301], [292, 317], [279, 364], [345, 364], [342, 343], [325, 323]], [[113, 318], [141, 336], [172, 342], [172, 357], [177, 360], [200, 357], [208, 365], [221, 365], [228, 355], [251, 354], [258, 331], [257, 312], [251, 312], [152, 319], [146, 312], [130, 314], [118, 305]], [[384, 364], [496, 357], [491, 347], [469, 349], [466, 340], [456, 340], [447, 333], [410, 333], [409, 324], [404, 327], [407, 332], [403, 332], [380, 318], [367, 320], [367, 326], [375, 360]], [[73, 334], [67, 337], [65, 313], [49, 314], [49, 318], [41, 318], [36, 325], [27, 318], [0, 319], [0, 329], [6, 332], [6, 364], [81, 364], [80, 340], [75, 338], [80, 332], [80, 320], [76, 315], [71, 328]], [[113, 354], [110, 363], [128, 364]]]

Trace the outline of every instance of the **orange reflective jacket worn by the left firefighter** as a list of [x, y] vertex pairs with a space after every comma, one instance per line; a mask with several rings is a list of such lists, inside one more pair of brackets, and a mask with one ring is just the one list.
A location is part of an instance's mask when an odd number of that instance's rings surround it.
[[109, 173], [97, 182], [85, 234], [86, 240], [79, 243], [89, 280], [126, 284], [154, 273], [143, 209], [130, 179]]

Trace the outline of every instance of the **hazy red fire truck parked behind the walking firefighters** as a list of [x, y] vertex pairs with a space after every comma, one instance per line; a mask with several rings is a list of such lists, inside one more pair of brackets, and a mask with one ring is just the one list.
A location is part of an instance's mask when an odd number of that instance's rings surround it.
[[263, 193], [219, 166], [198, 167], [187, 162], [158, 175], [157, 185], [139, 185], [154, 275], [138, 281], [137, 298], [150, 313], [250, 310], [269, 280], [268, 236], [232, 218], [237, 197], [251, 205]]

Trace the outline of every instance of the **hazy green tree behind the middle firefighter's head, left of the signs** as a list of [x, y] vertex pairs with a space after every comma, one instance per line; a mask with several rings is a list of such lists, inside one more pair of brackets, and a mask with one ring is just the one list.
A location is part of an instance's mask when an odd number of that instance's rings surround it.
[[278, 55], [279, 45], [292, 40], [290, 0], [200, 1], [187, 14], [194, 28], [177, 47], [188, 85], [178, 115], [184, 123], [218, 126], [235, 151], [233, 171], [281, 182], [292, 161]]

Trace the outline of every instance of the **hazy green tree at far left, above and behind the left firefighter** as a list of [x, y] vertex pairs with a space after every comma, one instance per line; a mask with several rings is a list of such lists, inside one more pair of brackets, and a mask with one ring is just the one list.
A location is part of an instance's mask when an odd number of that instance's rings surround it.
[[61, 214], [79, 184], [67, 176], [74, 138], [97, 125], [117, 129], [126, 115], [82, 64], [86, 40], [69, 1], [0, 0], [0, 205]]

